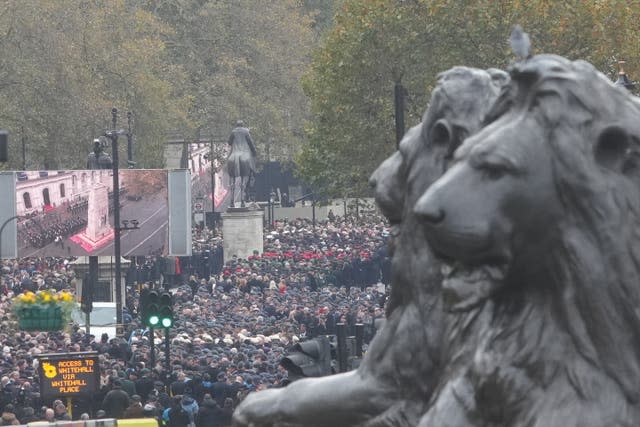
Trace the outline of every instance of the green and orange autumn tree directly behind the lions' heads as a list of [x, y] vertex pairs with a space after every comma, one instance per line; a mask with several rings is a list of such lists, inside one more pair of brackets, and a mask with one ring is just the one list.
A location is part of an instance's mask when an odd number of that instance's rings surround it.
[[516, 23], [533, 53], [585, 59], [612, 78], [624, 58], [638, 77], [639, 18], [639, 8], [620, 0], [345, 0], [303, 80], [311, 119], [298, 172], [330, 194], [363, 194], [395, 150], [395, 82], [409, 94], [406, 125], [416, 125], [439, 72], [509, 64]]

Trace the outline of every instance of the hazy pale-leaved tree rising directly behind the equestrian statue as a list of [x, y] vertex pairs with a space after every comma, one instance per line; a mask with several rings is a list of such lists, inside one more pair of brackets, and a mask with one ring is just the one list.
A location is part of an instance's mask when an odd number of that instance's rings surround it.
[[290, 158], [307, 115], [299, 80], [315, 9], [295, 0], [149, 1], [145, 8], [175, 29], [166, 44], [189, 75], [196, 128], [226, 141], [242, 119], [262, 160]]

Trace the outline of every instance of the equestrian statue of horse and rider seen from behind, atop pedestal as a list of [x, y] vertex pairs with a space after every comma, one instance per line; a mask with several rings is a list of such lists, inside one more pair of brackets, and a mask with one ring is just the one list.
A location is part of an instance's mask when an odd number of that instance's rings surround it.
[[240, 207], [245, 207], [246, 188], [251, 177], [256, 173], [256, 147], [251, 139], [249, 129], [242, 120], [236, 122], [236, 127], [229, 136], [229, 157], [227, 157], [227, 172], [231, 178], [231, 205], [236, 202], [236, 178], [240, 178]]

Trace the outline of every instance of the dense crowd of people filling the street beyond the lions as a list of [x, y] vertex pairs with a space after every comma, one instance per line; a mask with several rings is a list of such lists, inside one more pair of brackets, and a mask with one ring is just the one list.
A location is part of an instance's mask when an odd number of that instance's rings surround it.
[[[365, 343], [384, 316], [390, 264], [388, 228], [375, 214], [278, 221], [265, 229], [264, 251], [222, 262], [217, 229], [194, 228], [193, 256], [136, 259], [127, 275], [131, 323], [124, 338], [15, 329], [10, 299], [24, 290], [75, 290], [70, 259], [4, 260], [0, 285], [0, 408], [7, 418], [67, 419], [62, 402], [39, 395], [37, 356], [95, 351], [100, 391], [75, 399], [73, 417], [152, 416], [169, 426], [225, 426], [249, 392], [289, 381], [280, 360], [291, 346], [365, 325]], [[167, 267], [171, 265], [171, 268]], [[176, 314], [170, 364], [162, 334], [137, 316], [142, 286], [171, 286]], [[151, 354], [154, 340], [156, 353]], [[366, 346], [366, 344], [365, 344]], [[84, 414], [84, 415], [81, 415]], [[13, 422], [13, 421], [11, 421]]]

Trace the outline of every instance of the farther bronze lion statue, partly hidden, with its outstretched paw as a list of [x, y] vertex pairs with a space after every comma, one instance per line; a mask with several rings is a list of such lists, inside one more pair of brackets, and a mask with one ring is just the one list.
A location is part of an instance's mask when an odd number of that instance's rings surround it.
[[[356, 371], [305, 378], [251, 393], [234, 414], [237, 426], [415, 426], [443, 363], [446, 316], [440, 263], [413, 212], [446, 170], [462, 140], [483, 123], [506, 73], [456, 67], [439, 77], [422, 123], [373, 173], [371, 184], [393, 225], [392, 293], [387, 321]], [[427, 327], [428, 325], [428, 327]]]

